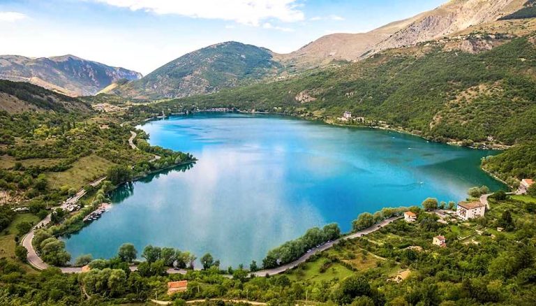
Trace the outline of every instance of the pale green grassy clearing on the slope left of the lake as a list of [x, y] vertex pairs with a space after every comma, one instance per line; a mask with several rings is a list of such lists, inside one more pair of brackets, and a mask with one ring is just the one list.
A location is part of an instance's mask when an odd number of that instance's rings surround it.
[[95, 178], [104, 175], [107, 168], [112, 165], [112, 162], [102, 157], [89, 155], [73, 163], [73, 167], [64, 172], [47, 173], [47, 178], [52, 188], [68, 186], [80, 189]]

